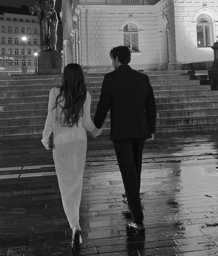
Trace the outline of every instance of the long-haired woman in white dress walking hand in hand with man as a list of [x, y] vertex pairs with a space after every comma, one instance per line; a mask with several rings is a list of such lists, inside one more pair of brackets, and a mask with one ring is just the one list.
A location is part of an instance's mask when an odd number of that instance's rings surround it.
[[81, 244], [79, 206], [83, 170], [86, 159], [86, 130], [98, 136], [90, 117], [91, 96], [86, 88], [84, 72], [79, 64], [64, 68], [62, 86], [49, 94], [48, 115], [41, 142], [49, 150], [49, 136], [53, 129], [53, 158], [62, 203], [73, 231], [72, 247]]

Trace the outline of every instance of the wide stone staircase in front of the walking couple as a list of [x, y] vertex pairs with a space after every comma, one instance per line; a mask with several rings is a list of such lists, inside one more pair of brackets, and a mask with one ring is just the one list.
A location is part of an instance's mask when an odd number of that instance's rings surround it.
[[[156, 132], [215, 131], [218, 91], [211, 91], [206, 75], [188, 71], [149, 71], [157, 103]], [[104, 74], [86, 74], [94, 117]], [[41, 136], [49, 90], [60, 86], [62, 75], [0, 77], [0, 136]], [[108, 113], [104, 132], [110, 128]]]

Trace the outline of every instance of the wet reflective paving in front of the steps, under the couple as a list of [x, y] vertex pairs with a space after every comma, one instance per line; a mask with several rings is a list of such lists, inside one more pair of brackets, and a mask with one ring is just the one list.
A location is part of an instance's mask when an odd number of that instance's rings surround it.
[[218, 135], [156, 135], [143, 151], [145, 236], [128, 206], [108, 136], [88, 138], [80, 206], [83, 242], [71, 249], [52, 153], [40, 139], [0, 140], [0, 255], [218, 255]]

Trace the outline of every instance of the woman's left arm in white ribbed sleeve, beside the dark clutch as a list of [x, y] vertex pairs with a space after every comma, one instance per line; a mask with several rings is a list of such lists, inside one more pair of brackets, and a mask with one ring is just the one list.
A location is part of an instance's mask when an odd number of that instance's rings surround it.
[[[49, 93], [48, 114], [47, 114], [47, 118], [45, 121], [45, 127], [43, 130], [42, 140], [41, 140], [41, 142], [44, 146], [47, 146], [49, 143], [49, 136], [52, 133], [52, 129], [53, 129], [54, 123], [55, 123], [55, 113], [56, 113], [56, 108], [54, 108], [55, 101], [56, 101], [56, 96], [54, 94], [54, 88], [52, 88]], [[54, 108], [54, 109], [52, 109], [52, 108]]]

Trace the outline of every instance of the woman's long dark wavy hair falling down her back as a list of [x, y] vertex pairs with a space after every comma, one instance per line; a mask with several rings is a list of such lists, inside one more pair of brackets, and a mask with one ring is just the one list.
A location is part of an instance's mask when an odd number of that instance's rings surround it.
[[[84, 72], [79, 64], [70, 63], [64, 68], [62, 78], [62, 86], [60, 86], [60, 94], [56, 98], [55, 106], [60, 106], [60, 102], [65, 99], [64, 106], [61, 106], [61, 114], [64, 113], [64, 123], [67, 127], [74, 124], [78, 127], [80, 116], [84, 112], [84, 102], [86, 100], [86, 81]], [[64, 99], [61, 99], [61, 96]]]

